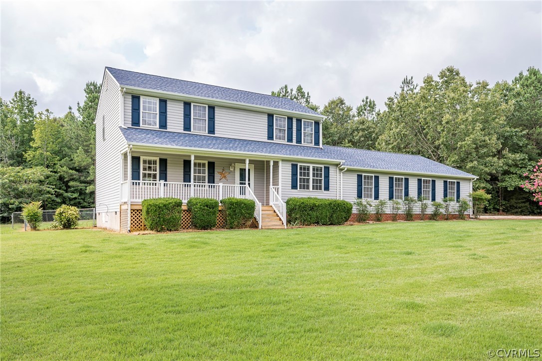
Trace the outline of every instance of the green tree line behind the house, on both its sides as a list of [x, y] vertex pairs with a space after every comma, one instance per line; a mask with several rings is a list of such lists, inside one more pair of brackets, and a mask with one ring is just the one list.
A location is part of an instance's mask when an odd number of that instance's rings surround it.
[[[0, 217], [24, 203], [44, 209], [62, 204], [94, 207], [94, 118], [100, 87], [87, 82], [85, 100], [61, 117], [20, 90], [0, 98]], [[487, 210], [540, 214], [542, 207], [520, 185], [542, 158], [542, 73], [528, 68], [491, 86], [468, 82], [447, 67], [422, 85], [406, 77], [383, 110], [365, 96], [354, 108], [338, 96], [320, 107], [302, 86], [285, 96], [326, 116], [326, 145], [419, 154], [480, 177], [475, 189], [492, 195]]]

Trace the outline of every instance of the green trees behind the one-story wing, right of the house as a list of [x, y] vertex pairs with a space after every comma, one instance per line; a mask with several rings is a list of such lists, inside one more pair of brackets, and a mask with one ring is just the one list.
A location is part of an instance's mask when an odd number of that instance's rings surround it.
[[468, 82], [459, 69], [428, 74], [422, 85], [405, 77], [380, 111], [369, 96], [354, 109], [338, 96], [323, 107], [308, 92], [281, 87], [286, 96], [327, 118], [323, 143], [419, 154], [479, 177], [474, 189], [492, 196], [489, 212], [540, 214], [520, 185], [542, 158], [542, 74], [530, 67], [512, 81]]

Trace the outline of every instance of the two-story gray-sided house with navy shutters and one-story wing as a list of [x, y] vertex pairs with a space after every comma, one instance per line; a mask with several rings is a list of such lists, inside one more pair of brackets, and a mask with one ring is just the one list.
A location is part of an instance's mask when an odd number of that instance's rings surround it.
[[324, 118], [286, 98], [106, 68], [98, 227], [140, 229], [141, 201], [155, 197], [250, 198], [258, 227], [283, 228], [289, 197], [431, 202], [472, 191], [475, 176], [427, 158], [323, 145]]

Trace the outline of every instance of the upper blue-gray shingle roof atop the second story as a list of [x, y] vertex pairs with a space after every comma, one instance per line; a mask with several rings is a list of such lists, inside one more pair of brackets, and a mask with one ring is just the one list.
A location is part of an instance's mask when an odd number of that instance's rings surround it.
[[164, 78], [164, 76], [130, 72], [129, 70], [106, 67], [113, 78], [121, 86], [143, 88], [153, 91], [177, 93], [202, 98], [233, 101], [242, 104], [257, 105], [266, 108], [282, 109], [285, 111], [320, 115], [288, 98], [267, 94], [241, 91], [237, 89], [218, 87], [193, 81]]

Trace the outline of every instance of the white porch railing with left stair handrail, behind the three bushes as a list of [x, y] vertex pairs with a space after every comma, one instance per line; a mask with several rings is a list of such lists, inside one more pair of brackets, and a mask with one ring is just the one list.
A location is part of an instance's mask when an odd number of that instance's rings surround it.
[[258, 201], [250, 187], [241, 184], [200, 184], [180, 182], [148, 182], [125, 181], [120, 184], [120, 200], [141, 202], [149, 198], [172, 197], [182, 199], [186, 203], [192, 197], [213, 198], [220, 201], [223, 198], [235, 197], [252, 199], [256, 203], [254, 217], [261, 226], [262, 204]]

